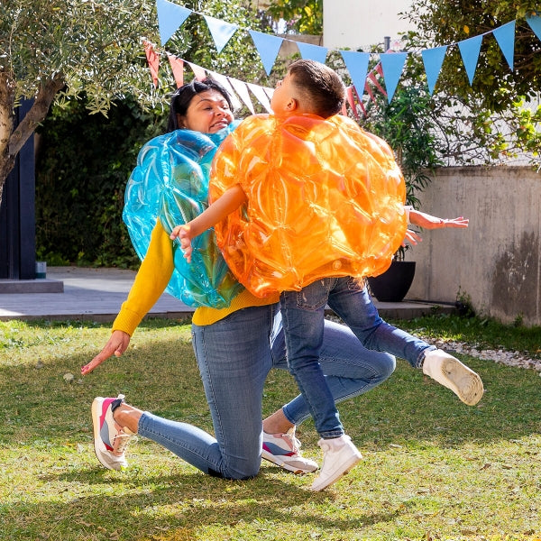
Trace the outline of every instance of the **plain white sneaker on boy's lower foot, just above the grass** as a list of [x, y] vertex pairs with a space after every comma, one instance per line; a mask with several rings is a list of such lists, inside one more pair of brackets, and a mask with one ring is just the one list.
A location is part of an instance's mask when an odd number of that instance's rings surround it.
[[320, 439], [317, 445], [323, 450], [323, 465], [310, 490], [323, 491], [338, 481], [362, 459], [362, 454], [352, 443], [350, 436]]

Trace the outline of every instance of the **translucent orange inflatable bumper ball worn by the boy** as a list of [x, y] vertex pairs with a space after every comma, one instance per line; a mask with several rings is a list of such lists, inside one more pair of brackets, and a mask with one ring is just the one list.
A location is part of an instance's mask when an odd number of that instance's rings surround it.
[[386, 142], [342, 115], [255, 115], [215, 156], [210, 201], [240, 183], [248, 204], [215, 225], [254, 295], [381, 274], [406, 232], [406, 188]]

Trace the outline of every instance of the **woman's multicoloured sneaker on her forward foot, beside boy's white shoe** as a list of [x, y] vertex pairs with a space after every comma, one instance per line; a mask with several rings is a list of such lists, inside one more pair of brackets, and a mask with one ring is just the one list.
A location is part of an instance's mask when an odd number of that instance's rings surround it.
[[316, 472], [317, 470], [317, 463], [305, 458], [300, 453], [300, 442], [295, 437], [295, 426], [289, 428], [286, 434], [263, 432], [261, 458], [297, 474]]

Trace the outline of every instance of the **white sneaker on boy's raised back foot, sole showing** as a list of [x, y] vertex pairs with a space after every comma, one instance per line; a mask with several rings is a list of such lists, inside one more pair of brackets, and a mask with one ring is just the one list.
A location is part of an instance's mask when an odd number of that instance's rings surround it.
[[468, 406], [481, 400], [483, 386], [479, 375], [443, 350], [426, 353], [423, 373], [452, 390]]

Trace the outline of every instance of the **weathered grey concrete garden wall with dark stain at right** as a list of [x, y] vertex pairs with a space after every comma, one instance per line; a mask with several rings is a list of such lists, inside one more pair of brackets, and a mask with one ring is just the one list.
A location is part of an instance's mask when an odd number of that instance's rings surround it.
[[471, 298], [478, 313], [541, 326], [541, 174], [527, 167], [445, 168], [419, 199], [421, 210], [463, 215], [468, 229], [423, 232], [408, 298]]

